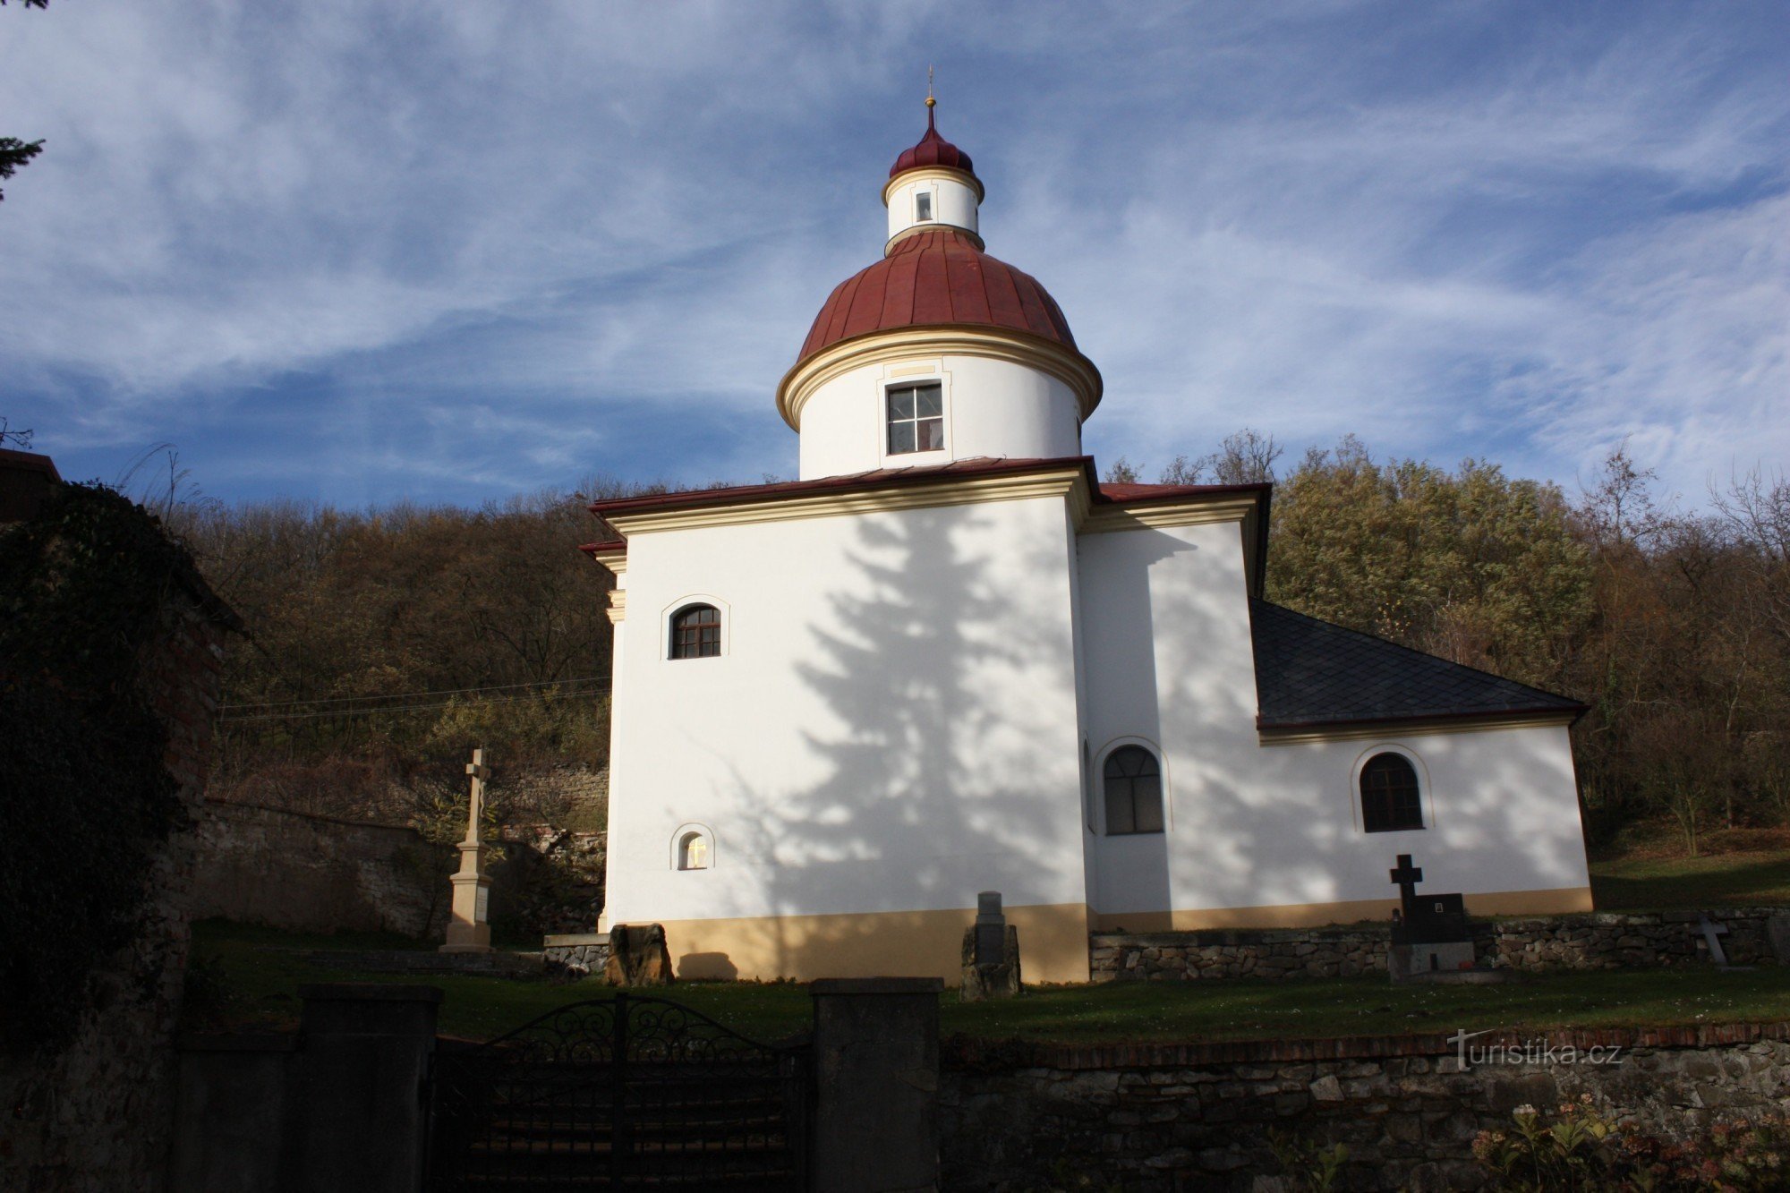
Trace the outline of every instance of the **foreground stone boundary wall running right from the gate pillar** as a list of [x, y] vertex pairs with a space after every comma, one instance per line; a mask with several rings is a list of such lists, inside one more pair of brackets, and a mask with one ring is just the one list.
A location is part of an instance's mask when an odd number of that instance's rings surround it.
[[[1496, 1044], [1504, 1050], [1464, 1053]], [[1661, 1139], [1684, 1139], [1718, 1116], [1781, 1114], [1790, 1023], [1470, 1044], [954, 1037], [943, 1050], [942, 1159], [947, 1189], [1251, 1189], [1262, 1188], [1257, 1177], [1283, 1175], [1269, 1132], [1291, 1132], [1348, 1146], [1342, 1189], [1471, 1189], [1484, 1180], [1471, 1157], [1480, 1130], [1509, 1129], [1518, 1105], [1552, 1114], [1581, 1094]]]

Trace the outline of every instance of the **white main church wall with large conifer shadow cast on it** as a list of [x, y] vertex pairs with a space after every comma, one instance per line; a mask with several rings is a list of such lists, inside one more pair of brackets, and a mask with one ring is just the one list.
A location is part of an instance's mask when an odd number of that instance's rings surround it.
[[[686, 976], [954, 978], [1001, 890], [1027, 973], [1085, 978], [1069, 552], [1054, 496], [632, 536], [609, 923]], [[725, 652], [668, 659], [698, 593]]]

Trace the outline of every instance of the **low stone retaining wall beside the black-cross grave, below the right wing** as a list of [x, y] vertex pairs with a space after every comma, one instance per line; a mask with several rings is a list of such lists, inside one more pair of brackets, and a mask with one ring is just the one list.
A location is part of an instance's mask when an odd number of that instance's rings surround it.
[[[1480, 966], [1532, 973], [1708, 964], [1702, 915], [1727, 930], [1720, 944], [1729, 962], [1790, 962], [1790, 914], [1783, 908], [1479, 921], [1473, 944]], [[1095, 982], [1335, 978], [1384, 973], [1389, 944], [1385, 924], [1095, 933], [1092, 976]]]

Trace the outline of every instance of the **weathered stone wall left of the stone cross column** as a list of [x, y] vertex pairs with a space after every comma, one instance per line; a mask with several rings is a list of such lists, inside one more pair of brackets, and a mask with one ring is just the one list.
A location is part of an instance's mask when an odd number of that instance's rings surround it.
[[448, 914], [451, 851], [412, 828], [208, 804], [197, 849], [195, 919], [428, 937]]

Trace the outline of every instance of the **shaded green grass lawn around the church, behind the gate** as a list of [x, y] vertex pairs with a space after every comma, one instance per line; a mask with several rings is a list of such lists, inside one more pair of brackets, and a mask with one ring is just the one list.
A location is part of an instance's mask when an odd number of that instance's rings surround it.
[[[310, 982], [439, 985], [442, 1032], [489, 1039], [524, 1019], [584, 998], [594, 982], [553, 985], [507, 978], [362, 974], [320, 969], [301, 949], [406, 948], [401, 937], [297, 935], [208, 921], [193, 955], [231, 992], [218, 1023], [297, 1021], [297, 989]], [[415, 948], [413, 942], [408, 944]], [[807, 1026], [807, 989], [797, 983], [680, 983], [666, 992], [737, 1032], [779, 1039]], [[1310, 982], [1221, 980], [1042, 987], [1006, 1003], [959, 1003], [945, 992], [945, 1034], [1047, 1041], [1316, 1039], [1455, 1028], [1552, 1028], [1729, 1023], [1790, 1017], [1790, 967], [1745, 973], [1658, 969], [1563, 973], [1509, 985], [1393, 987], [1384, 976]]]

